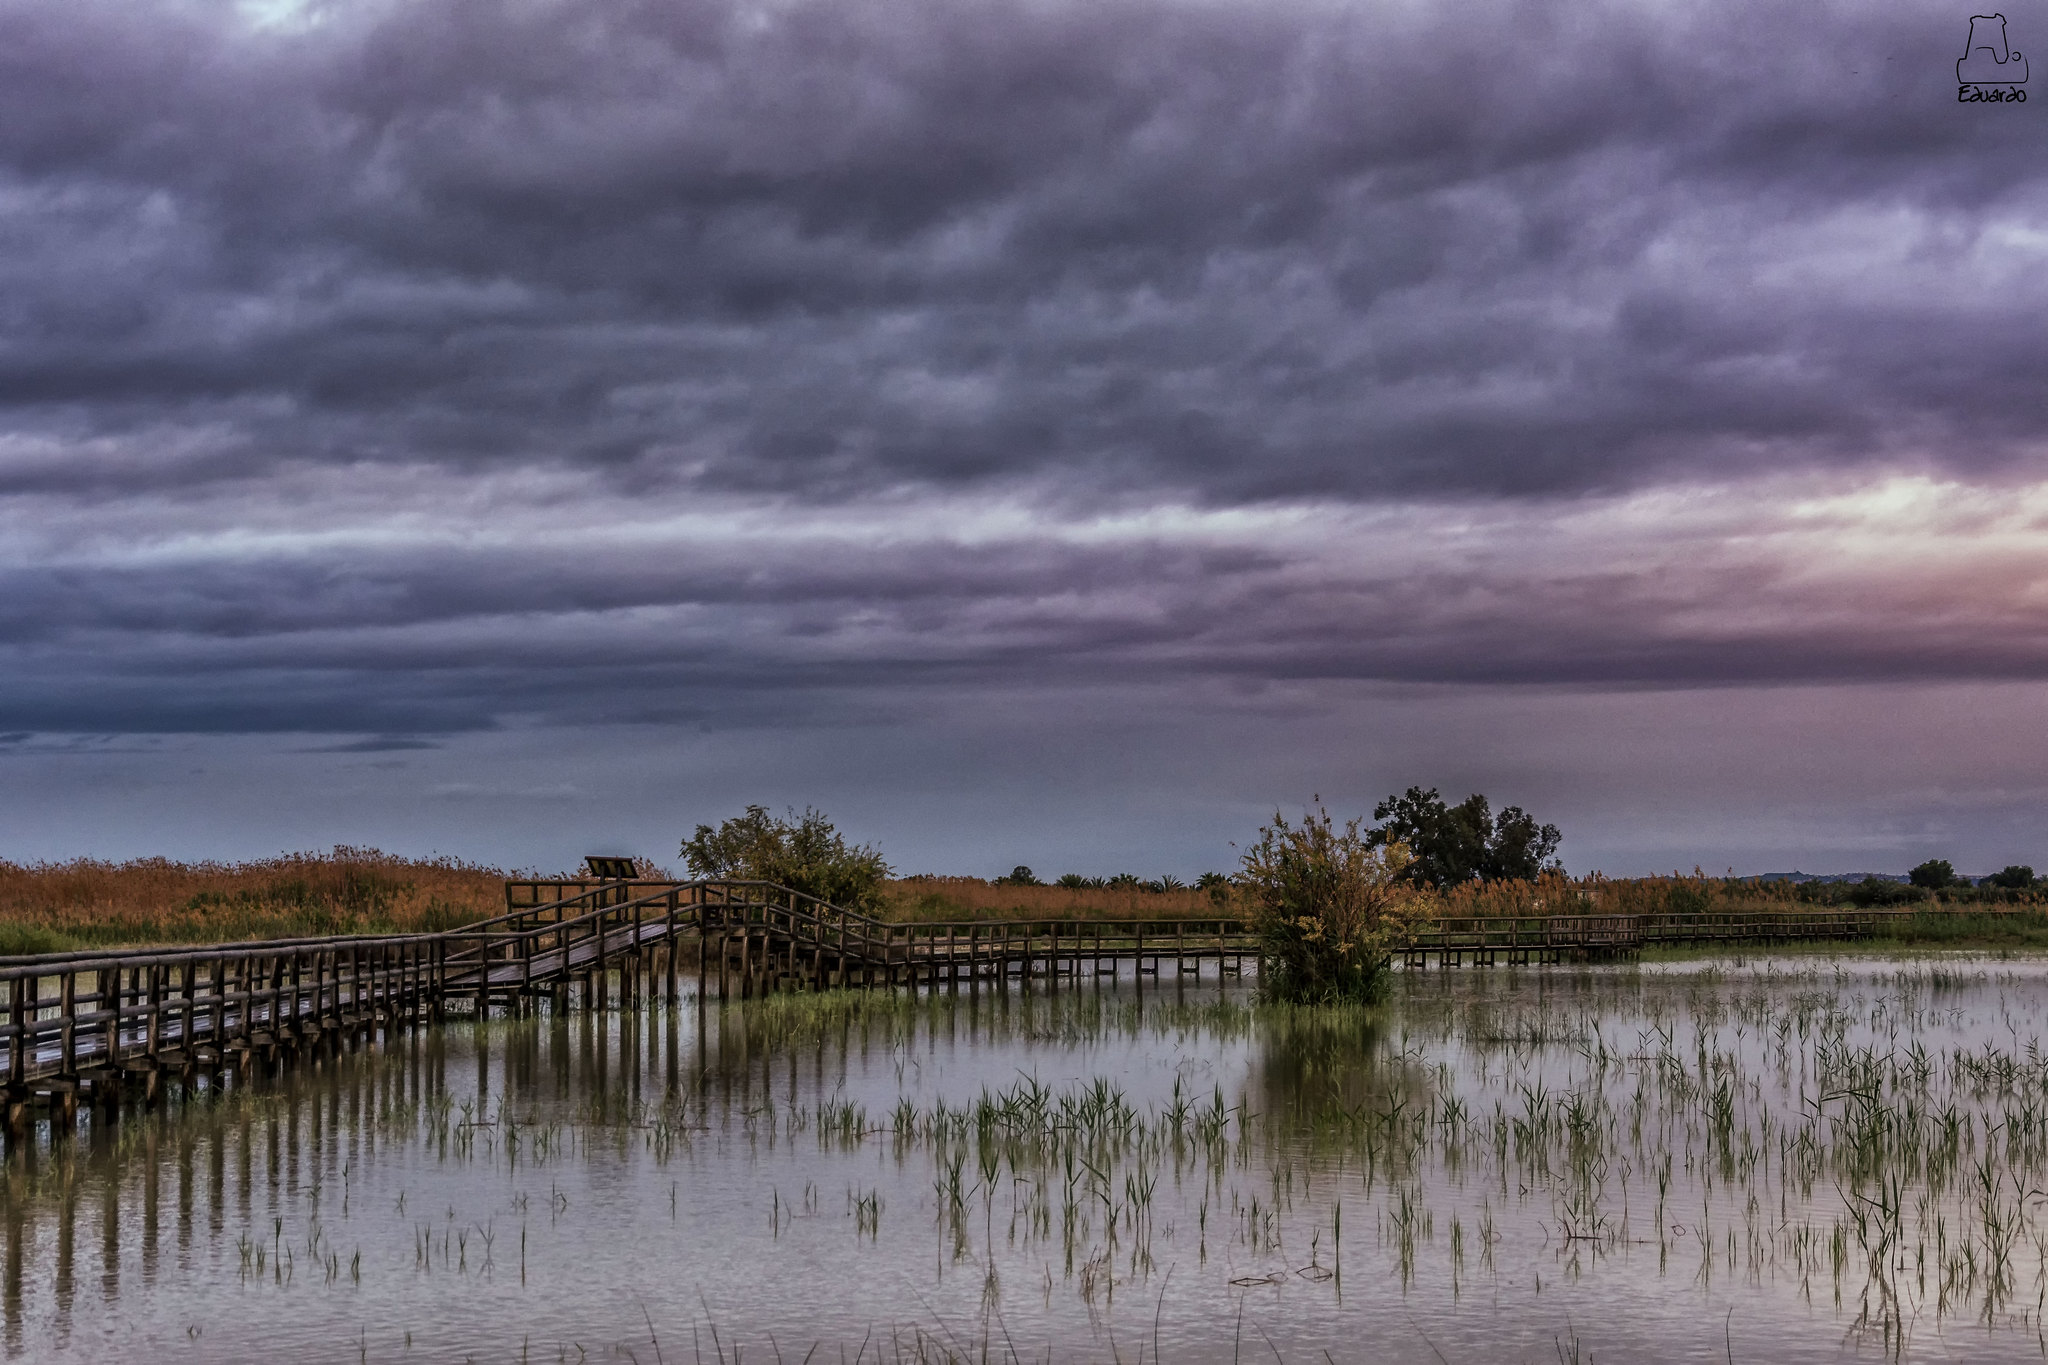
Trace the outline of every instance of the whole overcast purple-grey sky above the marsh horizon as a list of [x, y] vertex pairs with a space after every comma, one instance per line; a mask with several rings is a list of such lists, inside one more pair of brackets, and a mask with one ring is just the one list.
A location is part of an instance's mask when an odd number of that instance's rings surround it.
[[0, 857], [2048, 866], [1968, 16], [0, 0]]

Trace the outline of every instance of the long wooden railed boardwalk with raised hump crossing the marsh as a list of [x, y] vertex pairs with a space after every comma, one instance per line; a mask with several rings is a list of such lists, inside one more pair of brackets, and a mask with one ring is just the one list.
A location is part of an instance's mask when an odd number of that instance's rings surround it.
[[[1133, 964], [1145, 976], [1243, 972], [1257, 945], [1233, 919], [975, 921], [903, 925], [766, 882], [508, 882], [510, 911], [465, 929], [207, 948], [0, 958], [6, 990], [0, 1076], [10, 1130], [47, 1099], [70, 1113], [80, 1089], [117, 1097], [133, 1081], [264, 1068], [438, 1017], [446, 1003], [524, 1011], [604, 1009], [778, 988], [1057, 984]], [[1583, 962], [1645, 943], [1860, 937], [1898, 915], [1554, 915], [1452, 919], [1417, 937], [1411, 968]]]

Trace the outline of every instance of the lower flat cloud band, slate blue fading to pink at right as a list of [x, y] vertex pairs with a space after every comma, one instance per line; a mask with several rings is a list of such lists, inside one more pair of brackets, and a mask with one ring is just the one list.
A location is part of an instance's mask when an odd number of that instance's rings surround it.
[[[1278, 518], [1223, 514], [1124, 538], [1081, 526], [1094, 542], [1038, 526], [872, 546], [793, 524], [590, 553], [301, 548], [14, 571], [0, 577], [0, 630], [25, 667], [0, 675], [0, 714], [35, 731], [365, 733], [356, 747], [371, 751], [508, 722], [848, 724], [1018, 686], [1210, 688], [1262, 710], [1270, 684], [1305, 684], [1313, 704], [1315, 686], [1360, 681], [2048, 675], [2048, 563], [2038, 546], [2005, 548], [2038, 524], [2038, 501], [1974, 516], [1985, 548], [1950, 565], [1968, 591], [1886, 567], [1923, 542], [1843, 512], [1827, 534], [1815, 508], [1788, 522], [1806, 524], [1800, 548], [1841, 561], [1833, 571], [1726, 555], [1712, 518], [1690, 538], [1653, 522], [1649, 538], [1669, 544], [1647, 546], [1554, 518], [1450, 528], [1444, 516], [1411, 508], [1376, 528], [1325, 516], [1282, 536]], [[1608, 514], [1636, 518], [1638, 505]], [[1587, 563], [1548, 538], [1581, 540]]]

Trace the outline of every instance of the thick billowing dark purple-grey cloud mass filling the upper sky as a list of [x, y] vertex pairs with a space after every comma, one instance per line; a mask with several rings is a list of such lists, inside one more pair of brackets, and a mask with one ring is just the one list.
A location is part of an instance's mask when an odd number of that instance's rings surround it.
[[[2042, 287], [1968, 260], [2036, 123], [1946, 102], [1933, 6], [322, 12], [4, 10], [20, 424], [1223, 501], [2042, 434]], [[1800, 278], [1858, 213], [1948, 295]]]

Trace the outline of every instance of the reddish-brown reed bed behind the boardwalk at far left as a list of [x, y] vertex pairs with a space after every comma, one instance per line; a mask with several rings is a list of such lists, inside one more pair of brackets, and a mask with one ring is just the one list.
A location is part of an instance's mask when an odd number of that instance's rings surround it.
[[504, 878], [354, 847], [244, 864], [0, 860], [0, 954], [453, 929], [500, 915]]

